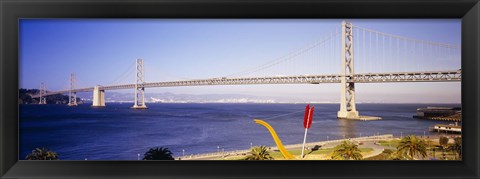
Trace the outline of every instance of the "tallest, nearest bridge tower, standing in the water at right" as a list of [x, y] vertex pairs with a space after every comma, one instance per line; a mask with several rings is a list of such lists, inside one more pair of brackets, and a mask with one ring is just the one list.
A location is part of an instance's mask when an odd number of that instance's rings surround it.
[[341, 60], [342, 77], [340, 87], [340, 110], [337, 118], [359, 118], [355, 106], [355, 83], [353, 66], [353, 26], [346, 21], [342, 22]]

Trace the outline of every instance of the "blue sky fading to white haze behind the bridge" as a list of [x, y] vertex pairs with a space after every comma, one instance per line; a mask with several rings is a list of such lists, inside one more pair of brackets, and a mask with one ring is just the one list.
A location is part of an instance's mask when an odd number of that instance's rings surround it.
[[[460, 19], [348, 21], [390, 34], [460, 45]], [[340, 19], [23, 19], [20, 21], [20, 87], [39, 88], [40, 82], [45, 82], [49, 90], [67, 89], [70, 73], [76, 73], [79, 87], [133, 83], [137, 58], [145, 60], [147, 82], [223, 77], [322, 39], [338, 29], [340, 23]], [[358, 38], [361, 40], [364, 36]], [[358, 49], [357, 54], [361, 56], [361, 48]], [[405, 58], [411, 61], [392, 58], [390, 67], [415, 64], [414, 58]], [[358, 65], [359, 71], [368, 71], [362, 67], [372, 62], [358, 59], [356, 68]], [[335, 63], [320, 63], [319, 73], [339, 73], [340, 66]], [[424, 67], [418, 68], [427, 69], [432, 67], [430, 64], [443, 62], [425, 62]], [[444, 64], [442, 69], [458, 68], [460, 59]], [[378, 66], [372, 67], [387, 68], [385, 63], [375, 65]], [[460, 102], [460, 86], [459, 82], [357, 84], [356, 93], [359, 101]], [[336, 101], [340, 96], [339, 88], [339, 84], [244, 85], [149, 88], [146, 91]], [[119, 92], [130, 93], [133, 89]]]

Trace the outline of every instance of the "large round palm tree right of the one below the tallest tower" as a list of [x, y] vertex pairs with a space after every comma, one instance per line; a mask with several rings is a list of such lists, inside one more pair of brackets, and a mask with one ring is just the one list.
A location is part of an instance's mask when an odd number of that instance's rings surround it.
[[407, 155], [410, 159], [414, 159], [416, 155], [425, 157], [427, 156], [427, 143], [424, 139], [418, 138], [415, 135], [405, 136], [400, 140], [397, 151]]

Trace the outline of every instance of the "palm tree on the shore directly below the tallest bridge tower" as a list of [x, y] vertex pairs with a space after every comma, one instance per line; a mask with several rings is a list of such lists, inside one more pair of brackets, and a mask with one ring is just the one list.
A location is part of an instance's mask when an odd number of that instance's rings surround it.
[[337, 145], [331, 155], [332, 159], [337, 160], [361, 160], [363, 158], [358, 145], [348, 140]]

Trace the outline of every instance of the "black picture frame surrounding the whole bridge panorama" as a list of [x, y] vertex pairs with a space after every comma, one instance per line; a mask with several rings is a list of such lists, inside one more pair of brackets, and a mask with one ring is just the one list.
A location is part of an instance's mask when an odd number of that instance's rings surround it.
[[[461, 18], [462, 161], [18, 161], [19, 18]], [[478, 0], [1, 0], [2, 178], [480, 178]], [[434, 29], [432, 29], [434, 30]]]

